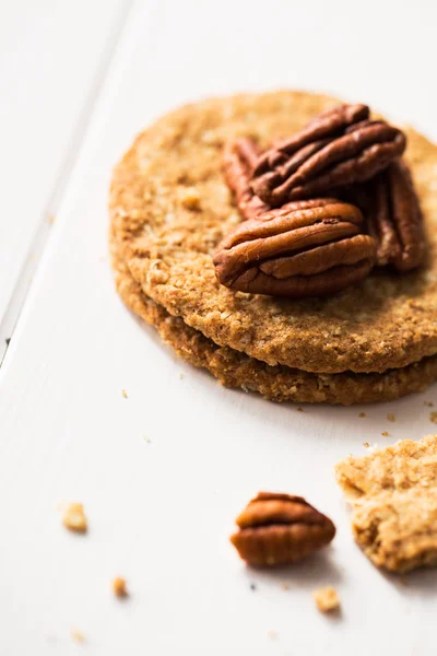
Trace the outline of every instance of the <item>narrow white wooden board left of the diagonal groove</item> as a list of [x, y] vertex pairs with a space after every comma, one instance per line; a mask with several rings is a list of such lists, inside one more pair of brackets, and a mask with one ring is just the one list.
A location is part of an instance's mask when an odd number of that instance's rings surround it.
[[0, 0], [0, 360], [130, 4]]

